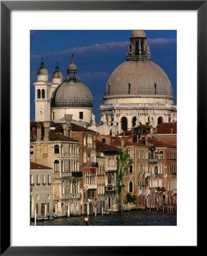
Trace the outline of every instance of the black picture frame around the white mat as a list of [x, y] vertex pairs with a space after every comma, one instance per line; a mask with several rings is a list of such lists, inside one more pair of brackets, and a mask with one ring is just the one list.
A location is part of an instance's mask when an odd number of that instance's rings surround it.
[[[196, 10], [197, 130], [202, 127], [203, 131], [202, 136], [197, 135], [199, 170], [206, 155], [202, 146], [206, 144], [207, 120], [207, 1], [1, 1], [1, 255], [157, 255], [159, 250], [153, 246], [10, 246], [10, 13], [13, 10]], [[196, 125], [196, 120], [190, 125]], [[196, 139], [194, 134], [192, 138]], [[6, 213], [3, 205], [7, 205]], [[198, 249], [198, 245], [200, 247], [199, 241], [197, 235], [197, 246], [191, 247], [191, 253]], [[176, 250], [175, 246], [171, 247], [170, 253], [169, 249], [160, 253], [175, 255]]]

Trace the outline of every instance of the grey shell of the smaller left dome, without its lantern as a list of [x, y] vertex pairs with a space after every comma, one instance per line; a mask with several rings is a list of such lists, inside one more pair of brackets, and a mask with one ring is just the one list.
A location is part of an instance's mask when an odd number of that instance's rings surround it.
[[65, 81], [53, 93], [52, 107], [93, 108], [90, 90], [78, 81]]

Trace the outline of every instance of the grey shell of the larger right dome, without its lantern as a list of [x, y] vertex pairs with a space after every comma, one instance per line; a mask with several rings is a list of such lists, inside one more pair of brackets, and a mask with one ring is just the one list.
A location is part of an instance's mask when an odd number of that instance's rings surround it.
[[[130, 86], [130, 88], [129, 88]], [[126, 61], [111, 74], [105, 88], [107, 96], [170, 96], [172, 86], [163, 69], [151, 61]]]

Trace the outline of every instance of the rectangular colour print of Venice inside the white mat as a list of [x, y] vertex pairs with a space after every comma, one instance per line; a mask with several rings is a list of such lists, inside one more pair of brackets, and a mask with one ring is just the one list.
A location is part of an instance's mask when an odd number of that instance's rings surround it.
[[30, 53], [30, 225], [176, 226], [176, 30], [31, 30]]

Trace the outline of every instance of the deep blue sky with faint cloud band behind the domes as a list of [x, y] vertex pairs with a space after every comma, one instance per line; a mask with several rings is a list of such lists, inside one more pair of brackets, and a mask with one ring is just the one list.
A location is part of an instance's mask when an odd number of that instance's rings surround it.
[[[174, 104], [177, 104], [177, 33], [175, 30], [145, 30], [150, 44], [151, 61], [167, 74], [173, 88]], [[131, 30], [41, 30], [31, 31], [30, 49], [30, 97], [31, 120], [35, 119], [36, 72], [42, 57], [48, 69], [49, 80], [59, 62], [63, 77], [74, 55], [80, 81], [93, 94], [96, 123], [100, 122], [100, 105], [103, 104], [105, 85], [118, 65], [126, 61], [127, 44]]]

